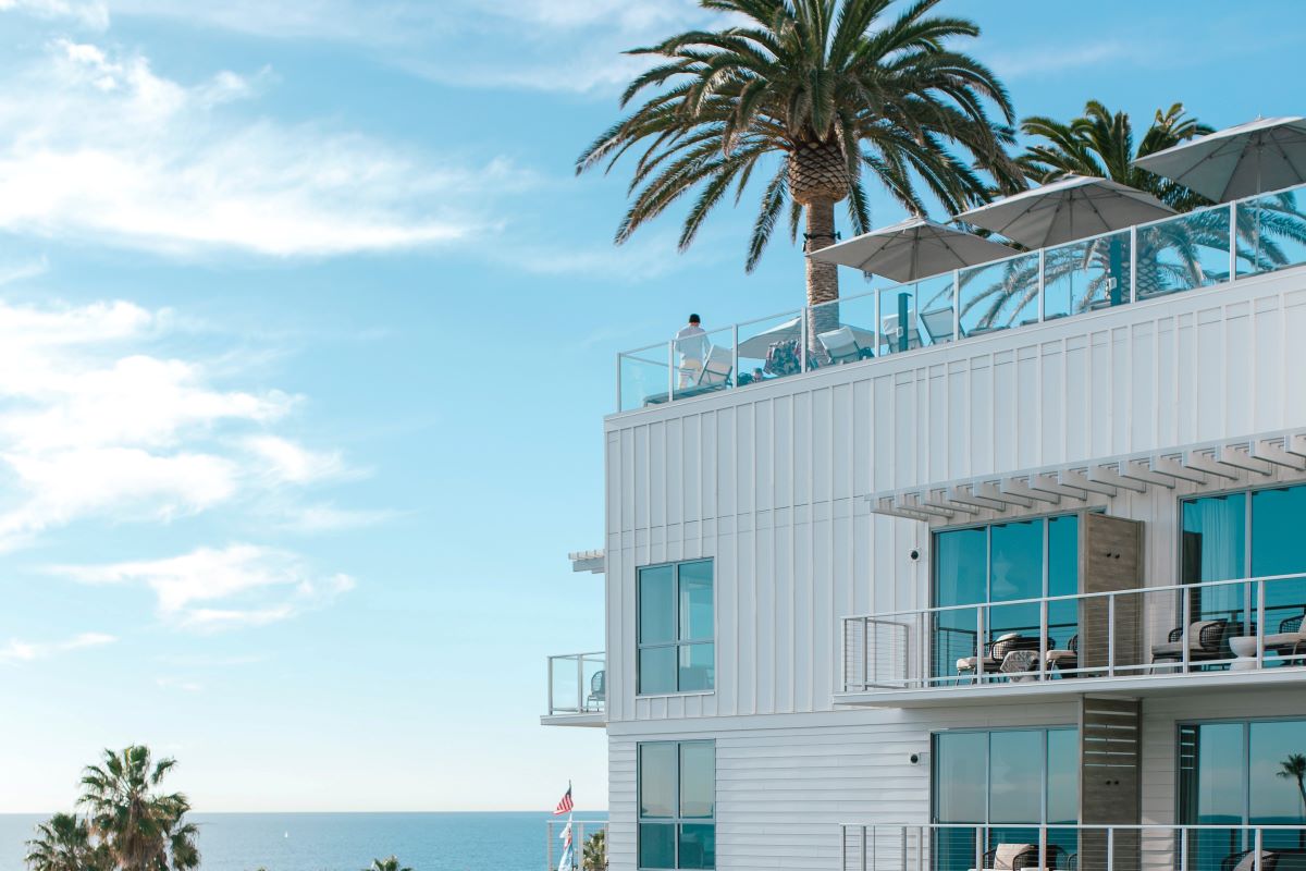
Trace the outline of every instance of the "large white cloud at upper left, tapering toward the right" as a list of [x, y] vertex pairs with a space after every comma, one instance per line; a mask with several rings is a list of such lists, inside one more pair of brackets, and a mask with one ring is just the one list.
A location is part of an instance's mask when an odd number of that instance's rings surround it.
[[0, 90], [0, 229], [171, 255], [336, 255], [449, 243], [532, 184], [326, 124], [229, 112], [269, 74], [197, 84], [140, 54], [57, 39]]

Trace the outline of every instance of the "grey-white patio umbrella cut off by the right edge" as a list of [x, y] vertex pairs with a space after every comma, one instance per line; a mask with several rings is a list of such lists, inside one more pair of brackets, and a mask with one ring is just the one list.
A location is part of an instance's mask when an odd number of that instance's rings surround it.
[[1306, 118], [1266, 118], [1134, 161], [1216, 202], [1306, 182]]

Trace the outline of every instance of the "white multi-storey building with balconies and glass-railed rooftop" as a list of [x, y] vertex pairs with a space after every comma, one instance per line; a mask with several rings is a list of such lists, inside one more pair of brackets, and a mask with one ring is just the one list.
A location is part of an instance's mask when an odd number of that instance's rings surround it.
[[606, 654], [543, 717], [607, 730], [613, 871], [1306, 868], [1306, 245], [1264, 202], [717, 330], [687, 387], [622, 355]]

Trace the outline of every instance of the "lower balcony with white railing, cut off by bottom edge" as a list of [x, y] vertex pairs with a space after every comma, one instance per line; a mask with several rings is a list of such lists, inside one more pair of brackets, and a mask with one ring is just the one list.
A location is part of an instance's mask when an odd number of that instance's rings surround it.
[[842, 825], [842, 871], [1301, 871], [1302, 825]]

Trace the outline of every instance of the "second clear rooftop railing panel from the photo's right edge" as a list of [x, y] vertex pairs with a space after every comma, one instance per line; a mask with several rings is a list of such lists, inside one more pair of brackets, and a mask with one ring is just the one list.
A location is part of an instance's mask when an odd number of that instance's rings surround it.
[[1138, 229], [1138, 298], [1229, 281], [1229, 209], [1191, 212]]

